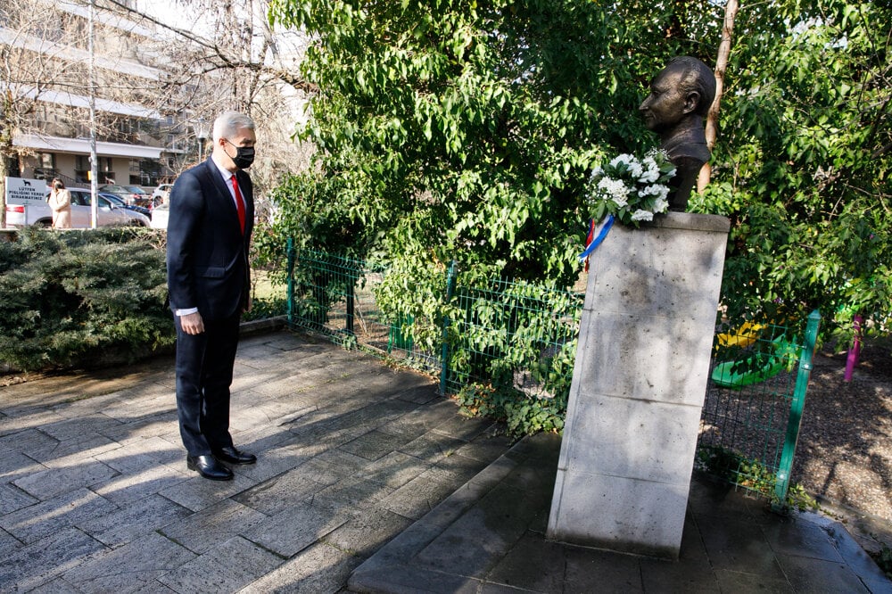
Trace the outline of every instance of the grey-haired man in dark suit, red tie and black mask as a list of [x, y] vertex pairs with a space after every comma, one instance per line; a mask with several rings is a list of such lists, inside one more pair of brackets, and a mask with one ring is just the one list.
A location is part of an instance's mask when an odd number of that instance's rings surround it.
[[186, 466], [232, 480], [221, 464], [253, 464], [229, 434], [238, 328], [251, 307], [248, 246], [254, 219], [254, 123], [235, 111], [214, 122], [211, 157], [170, 192], [168, 291], [177, 326], [177, 409]]

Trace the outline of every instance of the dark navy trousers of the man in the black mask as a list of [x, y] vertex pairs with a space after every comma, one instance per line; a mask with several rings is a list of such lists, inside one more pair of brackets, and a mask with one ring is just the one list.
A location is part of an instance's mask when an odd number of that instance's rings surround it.
[[177, 326], [177, 411], [179, 434], [189, 456], [207, 456], [231, 446], [229, 386], [238, 348], [240, 314], [204, 320], [202, 334]]

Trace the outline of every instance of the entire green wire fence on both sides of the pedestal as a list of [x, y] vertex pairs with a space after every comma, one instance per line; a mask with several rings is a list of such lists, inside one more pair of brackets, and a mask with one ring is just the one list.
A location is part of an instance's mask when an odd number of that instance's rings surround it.
[[[310, 250], [298, 256], [289, 248], [289, 272], [293, 327], [437, 375], [444, 394], [487, 384], [566, 407], [582, 293], [497, 279], [472, 283], [453, 265], [442, 279], [438, 313], [416, 316], [381, 311], [376, 291], [387, 270], [360, 260]], [[717, 328], [698, 438], [701, 470], [781, 504], [786, 499], [819, 320], [814, 312], [801, 339], [781, 324]]]

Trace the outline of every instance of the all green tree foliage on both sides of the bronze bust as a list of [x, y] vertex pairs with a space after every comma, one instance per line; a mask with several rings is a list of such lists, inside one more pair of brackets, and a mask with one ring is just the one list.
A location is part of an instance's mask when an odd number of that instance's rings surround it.
[[[342, 250], [567, 286], [591, 168], [658, 143], [638, 118], [644, 89], [673, 55], [714, 63], [723, 12], [672, 0], [274, 0], [271, 19], [313, 41], [302, 74], [318, 95], [299, 136], [318, 167], [301, 183], [351, 228]], [[731, 315], [791, 322], [820, 308], [842, 327], [855, 311], [888, 316], [888, 12], [741, 5], [713, 182], [691, 201], [731, 218]], [[308, 228], [283, 215], [285, 233]]]

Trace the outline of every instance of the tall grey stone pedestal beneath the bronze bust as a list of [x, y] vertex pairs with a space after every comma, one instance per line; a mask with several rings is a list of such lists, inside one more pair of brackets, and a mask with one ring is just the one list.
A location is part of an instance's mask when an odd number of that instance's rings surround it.
[[678, 558], [728, 229], [670, 212], [592, 253], [549, 540]]

